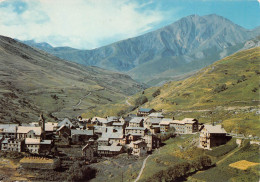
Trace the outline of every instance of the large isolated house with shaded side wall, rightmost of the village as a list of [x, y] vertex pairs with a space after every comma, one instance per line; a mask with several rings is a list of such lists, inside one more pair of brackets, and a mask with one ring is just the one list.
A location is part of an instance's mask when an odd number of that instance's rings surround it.
[[204, 125], [200, 131], [199, 146], [210, 150], [211, 147], [225, 144], [227, 142], [227, 132], [221, 125]]

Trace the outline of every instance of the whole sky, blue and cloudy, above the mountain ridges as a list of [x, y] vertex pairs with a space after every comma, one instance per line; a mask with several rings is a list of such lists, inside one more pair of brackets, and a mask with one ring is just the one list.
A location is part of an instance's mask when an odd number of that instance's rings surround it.
[[260, 0], [0, 0], [0, 35], [94, 49], [192, 14], [253, 29], [260, 26]]

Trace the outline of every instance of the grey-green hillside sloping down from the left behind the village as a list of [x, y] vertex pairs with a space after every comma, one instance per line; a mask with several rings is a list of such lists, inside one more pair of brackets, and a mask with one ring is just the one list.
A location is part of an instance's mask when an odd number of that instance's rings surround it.
[[[46, 45], [48, 47], [48, 45]], [[129, 76], [67, 62], [0, 36], [0, 122], [75, 117], [143, 90]]]

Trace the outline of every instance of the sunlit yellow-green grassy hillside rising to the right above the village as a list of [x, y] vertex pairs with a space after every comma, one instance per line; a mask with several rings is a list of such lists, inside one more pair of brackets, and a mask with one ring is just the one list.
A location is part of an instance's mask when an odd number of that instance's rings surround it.
[[[149, 102], [142, 107], [163, 110], [167, 116], [196, 117], [200, 122], [222, 122], [228, 132], [259, 135], [259, 64], [260, 48], [244, 50], [228, 56], [200, 70], [194, 76], [182, 81], [173, 81], [162, 87], [144, 91]], [[238, 82], [245, 75], [245, 80]], [[219, 93], [214, 90], [223, 85], [227, 89]], [[155, 98], [152, 93], [160, 89]], [[254, 91], [253, 91], [254, 90]], [[134, 100], [138, 93], [128, 99]], [[114, 113], [126, 109], [125, 102], [110, 109]]]

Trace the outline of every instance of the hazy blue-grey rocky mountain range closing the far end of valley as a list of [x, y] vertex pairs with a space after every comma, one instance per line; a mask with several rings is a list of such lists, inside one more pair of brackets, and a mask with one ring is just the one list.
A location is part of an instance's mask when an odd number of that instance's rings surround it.
[[149, 85], [185, 77], [237, 50], [260, 35], [218, 15], [191, 15], [144, 35], [94, 50], [52, 47], [24, 41], [65, 60], [126, 72]]

